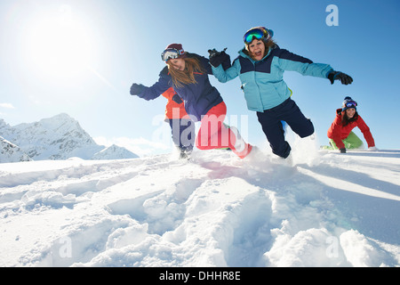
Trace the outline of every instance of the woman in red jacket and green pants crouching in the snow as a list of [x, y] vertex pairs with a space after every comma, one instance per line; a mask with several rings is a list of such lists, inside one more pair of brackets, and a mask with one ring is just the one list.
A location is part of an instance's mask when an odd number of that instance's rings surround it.
[[345, 97], [342, 109], [336, 110], [336, 118], [328, 130], [328, 138], [334, 150], [346, 153], [346, 149], [358, 149], [363, 142], [352, 132], [358, 126], [368, 143], [368, 150], [376, 151], [370, 128], [356, 111], [357, 102], [351, 97]]

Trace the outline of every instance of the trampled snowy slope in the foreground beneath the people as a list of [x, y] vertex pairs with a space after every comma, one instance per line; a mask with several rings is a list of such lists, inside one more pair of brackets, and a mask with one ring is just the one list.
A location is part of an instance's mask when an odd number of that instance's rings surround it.
[[0, 266], [400, 265], [400, 151], [297, 145], [293, 164], [230, 151], [1, 164]]

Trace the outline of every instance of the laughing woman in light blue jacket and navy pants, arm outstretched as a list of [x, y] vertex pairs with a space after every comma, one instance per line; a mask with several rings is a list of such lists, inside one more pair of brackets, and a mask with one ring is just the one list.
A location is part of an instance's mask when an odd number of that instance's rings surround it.
[[285, 121], [300, 137], [314, 134], [314, 126], [291, 99], [292, 91], [284, 82], [284, 71], [328, 78], [331, 84], [334, 80], [340, 80], [348, 85], [353, 79], [345, 73], [334, 71], [329, 64], [314, 63], [281, 49], [272, 39], [273, 35], [268, 28], [251, 28], [244, 34], [244, 49], [239, 51], [231, 68], [225, 70], [220, 65], [219, 57], [224, 56], [223, 53], [211, 56], [210, 63], [213, 75], [222, 83], [240, 77], [247, 108], [257, 112], [272, 151], [286, 159], [291, 146], [284, 139], [281, 121]]

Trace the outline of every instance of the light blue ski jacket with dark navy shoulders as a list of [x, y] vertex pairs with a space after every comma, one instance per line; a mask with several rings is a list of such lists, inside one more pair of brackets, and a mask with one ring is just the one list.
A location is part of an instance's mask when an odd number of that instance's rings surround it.
[[272, 109], [291, 96], [292, 92], [284, 82], [285, 70], [324, 78], [333, 71], [329, 64], [313, 63], [277, 45], [261, 61], [253, 61], [241, 50], [231, 68], [212, 67], [213, 75], [222, 83], [239, 76], [247, 108], [259, 112]]

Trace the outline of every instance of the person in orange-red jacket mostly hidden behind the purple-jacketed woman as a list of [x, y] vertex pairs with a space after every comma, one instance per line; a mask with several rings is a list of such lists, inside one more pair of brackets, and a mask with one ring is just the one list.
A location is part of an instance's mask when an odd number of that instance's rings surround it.
[[195, 122], [189, 118], [185, 104], [172, 87], [162, 95], [168, 100], [164, 120], [171, 126], [172, 142], [180, 151], [180, 159], [186, 159], [195, 143]]

